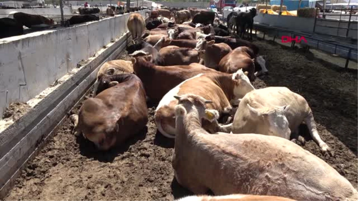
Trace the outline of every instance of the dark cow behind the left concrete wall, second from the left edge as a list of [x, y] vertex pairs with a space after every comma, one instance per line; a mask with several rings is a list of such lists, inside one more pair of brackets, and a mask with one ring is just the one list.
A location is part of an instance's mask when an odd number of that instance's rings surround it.
[[14, 13], [13, 17], [18, 24], [24, 25], [28, 28], [31, 28], [31, 26], [38, 25], [38, 24], [48, 24], [48, 25], [54, 24], [54, 21], [52, 19], [45, 18], [44, 16], [41, 15], [32, 15], [32, 14], [17, 12]]

